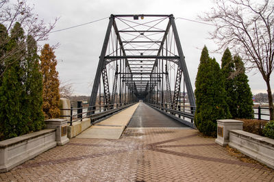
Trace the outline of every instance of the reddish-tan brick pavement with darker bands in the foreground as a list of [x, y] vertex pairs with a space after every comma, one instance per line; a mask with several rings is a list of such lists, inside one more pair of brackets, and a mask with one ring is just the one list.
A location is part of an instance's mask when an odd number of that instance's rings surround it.
[[73, 138], [0, 181], [274, 181], [193, 129], [127, 128], [119, 140]]

